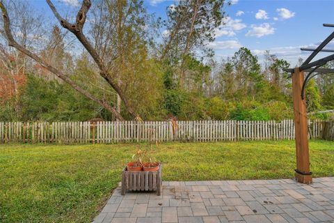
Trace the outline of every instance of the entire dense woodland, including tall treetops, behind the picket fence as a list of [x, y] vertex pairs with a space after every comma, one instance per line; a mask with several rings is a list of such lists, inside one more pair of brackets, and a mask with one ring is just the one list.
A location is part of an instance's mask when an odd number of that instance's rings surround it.
[[[143, 120], [164, 120], [170, 116], [180, 120], [292, 118], [291, 80], [283, 71], [290, 66], [287, 61], [267, 52], [260, 63], [246, 47], [230, 59], [214, 59], [207, 43], [214, 41], [214, 31], [225, 17], [223, 1], [202, 1], [200, 6], [180, 1], [166, 9], [167, 20], [148, 14], [142, 1], [127, 2], [95, 2], [89, 14], [94, 19], [87, 35], [110, 65], [108, 72], [116, 77], [123, 96]], [[21, 15], [38, 23], [39, 20], [33, 20], [34, 14], [29, 14], [29, 6], [15, 10], [24, 10]], [[194, 17], [191, 11], [198, 16]], [[15, 29], [42, 29], [22, 21]], [[159, 35], [161, 29], [164, 33]], [[105, 35], [110, 30], [113, 32]], [[101, 77], [90, 55], [81, 47], [77, 49], [64, 29], [54, 24], [50, 34], [43, 34], [44, 45], [38, 38], [38, 47], [36, 39], [29, 35], [32, 34], [17, 36], [19, 43], [38, 51], [51, 66], [115, 107], [122, 117], [133, 119], [118, 93]], [[1, 121], [115, 119], [106, 107], [15, 49], [1, 45], [0, 54]], [[333, 63], [327, 66], [333, 67]], [[312, 117], [329, 118], [330, 115], [317, 112], [334, 109], [333, 75], [317, 76], [306, 91]]]

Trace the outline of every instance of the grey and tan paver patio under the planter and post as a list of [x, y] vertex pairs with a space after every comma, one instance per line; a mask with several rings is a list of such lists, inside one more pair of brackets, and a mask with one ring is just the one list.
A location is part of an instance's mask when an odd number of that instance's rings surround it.
[[118, 187], [94, 222], [334, 222], [334, 177], [312, 185], [285, 180], [169, 181], [163, 193]]

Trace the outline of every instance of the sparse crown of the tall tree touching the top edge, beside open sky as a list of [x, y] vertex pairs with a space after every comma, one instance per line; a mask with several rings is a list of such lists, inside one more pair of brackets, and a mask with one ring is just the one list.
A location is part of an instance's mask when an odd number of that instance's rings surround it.
[[210, 0], [178, 1], [173, 8], [168, 7], [163, 24], [173, 34], [164, 37], [162, 56], [168, 54], [173, 61], [180, 61], [189, 53], [212, 55], [206, 45], [214, 41], [216, 29], [223, 22], [223, 6], [223, 0]]

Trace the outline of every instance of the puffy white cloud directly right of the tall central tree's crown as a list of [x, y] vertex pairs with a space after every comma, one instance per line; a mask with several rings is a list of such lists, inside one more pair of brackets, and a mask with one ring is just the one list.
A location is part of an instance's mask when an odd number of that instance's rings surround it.
[[242, 23], [242, 20], [233, 20], [231, 17], [224, 17], [222, 22], [223, 24], [214, 31], [216, 37], [235, 36], [235, 31], [246, 28], [246, 24]]

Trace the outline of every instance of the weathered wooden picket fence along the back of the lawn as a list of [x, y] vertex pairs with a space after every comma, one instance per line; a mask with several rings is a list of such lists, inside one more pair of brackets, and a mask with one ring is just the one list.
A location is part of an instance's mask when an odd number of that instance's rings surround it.
[[[321, 139], [323, 130], [322, 121], [309, 121], [310, 138]], [[173, 128], [171, 121], [0, 122], [2, 144], [113, 144], [150, 139], [195, 142], [294, 139], [294, 122], [177, 121], [177, 128], [175, 125]]]

